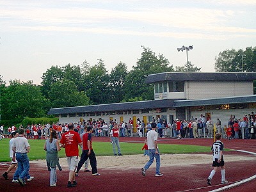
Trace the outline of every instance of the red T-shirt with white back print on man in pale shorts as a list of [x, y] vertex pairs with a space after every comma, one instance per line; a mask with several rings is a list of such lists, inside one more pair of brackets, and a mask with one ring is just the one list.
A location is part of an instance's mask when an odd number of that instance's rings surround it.
[[65, 144], [65, 152], [67, 157], [79, 156], [78, 144], [82, 140], [78, 132], [70, 130], [65, 132], [60, 140], [61, 144]]

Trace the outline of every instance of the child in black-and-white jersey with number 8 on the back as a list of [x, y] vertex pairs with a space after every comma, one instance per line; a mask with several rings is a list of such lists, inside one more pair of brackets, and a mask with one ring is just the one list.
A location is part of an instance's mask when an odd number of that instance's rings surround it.
[[225, 166], [224, 166], [224, 160], [223, 160], [223, 143], [220, 141], [221, 139], [221, 133], [218, 132], [215, 136], [216, 141], [212, 144], [212, 153], [213, 153], [213, 170], [211, 171], [208, 179], [207, 179], [207, 184], [211, 186], [211, 180], [212, 177], [214, 176], [217, 168], [220, 166], [221, 167], [221, 184], [227, 184], [228, 181], [226, 180], [226, 173], [225, 173]]

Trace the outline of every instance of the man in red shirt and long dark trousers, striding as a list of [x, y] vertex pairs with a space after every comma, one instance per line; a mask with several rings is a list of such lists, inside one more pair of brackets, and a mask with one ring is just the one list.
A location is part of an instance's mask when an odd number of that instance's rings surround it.
[[90, 164], [92, 166], [92, 175], [96, 175], [96, 176], [100, 175], [97, 170], [96, 156], [92, 148], [92, 127], [91, 126], [87, 127], [87, 132], [86, 134], [83, 135], [83, 152], [81, 154], [81, 159], [78, 163], [76, 173], [79, 172], [84, 162], [88, 158], [90, 159]]

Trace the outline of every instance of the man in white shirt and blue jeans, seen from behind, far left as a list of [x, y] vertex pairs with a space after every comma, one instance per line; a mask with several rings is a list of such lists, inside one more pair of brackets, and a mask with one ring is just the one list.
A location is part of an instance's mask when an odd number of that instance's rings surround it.
[[[25, 138], [25, 129], [20, 128], [18, 130], [19, 136], [15, 138], [12, 145], [13, 157], [12, 161], [15, 159], [18, 162], [17, 173], [19, 173], [19, 178], [17, 179], [21, 186], [25, 185], [25, 179], [28, 177], [29, 172], [29, 159], [28, 152], [30, 150], [30, 145], [28, 140]], [[16, 154], [16, 157], [15, 157]]]

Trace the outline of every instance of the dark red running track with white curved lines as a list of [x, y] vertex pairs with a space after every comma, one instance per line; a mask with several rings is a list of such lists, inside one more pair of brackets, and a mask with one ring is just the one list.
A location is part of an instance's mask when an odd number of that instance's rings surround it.
[[[120, 138], [120, 142], [143, 142], [145, 138]], [[93, 141], [108, 141], [109, 138], [93, 138]], [[161, 138], [159, 143], [166, 144], [186, 144], [186, 145], [204, 145], [211, 147], [210, 139], [170, 139]], [[256, 152], [256, 140], [223, 140], [225, 148], [234, 148]], [[225, 152], [236, 155], [253, 156], [241, 152]], [[256, 174], [256, 161], [227, 162], [226, 173], [230, 183], [252, 177]], [[1, 173], [8, 166], [0, 166]], [[206, 179], [211, 172], [211, 162], [209, 164], [195, 164], [194, 166], [167, 166], [161, 168], [163, 177], [154, 177], [154, 168], [147, 170], [146, 177], [141, 175], [141, 170], [109, 170], [108, 168], [99, 169], [101, 174], [98, 177], [90, 173], [81, 172], [77, 177], [76, 188], [67, 188], [68, 171], [57, 171], [58, 186], [49, 187], [49, 172], [45, 169], [45, 164], [39, 165], [31, 163], [30, 173], [35, 176], [34, 180], [27, 182], [22, 187], [19, 184], [12, 183], [12, 180], [0, 179], [0, 191], [211, 191], [212, 189], [221, 188], [220, 170], [212, 179], [212, 186], [208, 186]], [[10, 176], [13, 172], [10, 173]], [[256, 181], [252, 180], [246, 184], [232, 188], [229, 191], [256, 191]]]

